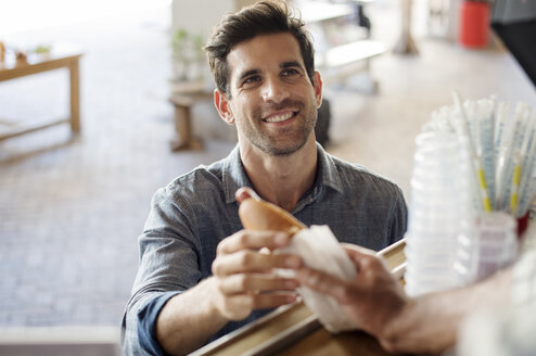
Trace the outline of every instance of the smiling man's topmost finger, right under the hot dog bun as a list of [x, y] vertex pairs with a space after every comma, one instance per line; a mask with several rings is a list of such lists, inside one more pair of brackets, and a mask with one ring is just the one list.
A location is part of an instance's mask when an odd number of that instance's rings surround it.
[[289, 244], [291, 237], [285, 232], [241, 230], [218, 244], [219, 254], [230, 254], [241, 250], [275, 250]]

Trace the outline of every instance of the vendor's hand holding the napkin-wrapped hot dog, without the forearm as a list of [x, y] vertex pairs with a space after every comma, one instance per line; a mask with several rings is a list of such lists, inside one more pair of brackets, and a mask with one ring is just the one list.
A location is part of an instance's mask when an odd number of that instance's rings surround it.
[[320, 293], [334, 297], [354, 320], [356, 328], [379, 336], [390, 318], [406, 303], [400, 283], [373, 251], [345, 244], [344, 249], [357, 267], [355, 279], [340, 280], [303, 267], [296, 280]]

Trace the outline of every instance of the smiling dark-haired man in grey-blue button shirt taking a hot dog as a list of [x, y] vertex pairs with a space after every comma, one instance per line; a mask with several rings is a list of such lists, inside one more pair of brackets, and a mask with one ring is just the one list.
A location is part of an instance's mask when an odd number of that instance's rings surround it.
[[396, 185], [316, 142], [322, 81], [309, 35], [284, 2], [260, 1], [226, 15], [205, 49], [215, 105], [235, 125], [239, 143], [226, 158], [155, 193], [123, 319], [129, 355], [189, 353], [295, 302], [296, 280], [272, 269], [299, 268], [302, 262], [260, 252], [285, 246], [290, 237], [243, 229], [238, 208], [248, 194], [372, 250], [406, 231]]

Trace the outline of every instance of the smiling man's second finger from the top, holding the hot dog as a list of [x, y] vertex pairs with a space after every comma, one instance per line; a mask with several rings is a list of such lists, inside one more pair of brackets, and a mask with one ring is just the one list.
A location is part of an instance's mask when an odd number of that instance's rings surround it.
[[215, 276], [229, 276], [241, 272], [263, 272], [271, 268], [298, 268], [302, 259], [296, 255], [265, 254], [244, 250], [217, 257], [213, 263]]

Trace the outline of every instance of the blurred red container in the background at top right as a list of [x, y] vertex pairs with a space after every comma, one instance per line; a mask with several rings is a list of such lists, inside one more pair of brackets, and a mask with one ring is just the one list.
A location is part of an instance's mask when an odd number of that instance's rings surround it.
[[462, 1], [460, 7], [460, 43], [468, 48], [480, 48], [487, 44], [488, 37], [489, 3]]

